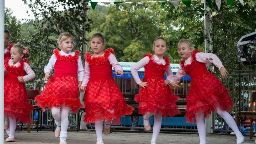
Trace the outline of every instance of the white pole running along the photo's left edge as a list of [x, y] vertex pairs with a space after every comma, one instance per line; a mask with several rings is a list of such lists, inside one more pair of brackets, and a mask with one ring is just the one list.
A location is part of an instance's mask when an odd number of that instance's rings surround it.
[[[4, 0], [0, 0], [0, 46], [4, 46]], [[4, 69], [4, 52], [0, 54], [0, 67]], [[4, 143], [4, 70], [0, 70], [0, 143]]]

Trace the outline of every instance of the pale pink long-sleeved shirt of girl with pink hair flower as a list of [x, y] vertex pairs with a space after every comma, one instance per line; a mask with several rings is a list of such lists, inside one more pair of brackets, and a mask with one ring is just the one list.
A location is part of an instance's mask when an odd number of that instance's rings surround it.
[[[9, 64], [10, 66], [12, 66], [12, 65], [13, 65], [12, 60], [9, 60], [9, 61], [8, 61], [8, 64]], [[14, 66], [17, 66], [17, 67], [18, 67], [19, 65], [20, 65], [20, 62], [16, 62], [16, 64], [14, 64]], [[23, 70], [28, 74], [28, 75], [26, 75], [26, 76], [22, 76], [24, 82], [27, 82], [27, 81], [29, 81], [29, 80], [32, 80], [33, 78], [36, 77], [35, 72], [31, 69], [31, 67], [30, 67], [30, 66], [28, 65], [28, 63], [26, 63], [26, 62], [24, 62], [24, 68], [23, 68]], [[4, 69], [4, 75], [6, 75], [6, 74], [7, 74], [7, 71]]]

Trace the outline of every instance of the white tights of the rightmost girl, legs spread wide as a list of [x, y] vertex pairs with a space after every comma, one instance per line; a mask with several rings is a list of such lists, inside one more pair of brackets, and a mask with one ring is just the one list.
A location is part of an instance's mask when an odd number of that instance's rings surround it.
[[[236, 125], [236, 122], [232, 118], [228, 112], [217, 108], [216, 112], [221, 116], [226, 123], [232, 128], [236, 136], [242, 135], [241, 132], [238, 130], [238, 127]], [[206, 130], [205, 130], [205, 124], [204, 124], [204, 114], [203, 113], [198, 113], [196, 114], [196, 125], [197, 125], [197, 130], [200, 138], [200, 144], [206, 144]]]

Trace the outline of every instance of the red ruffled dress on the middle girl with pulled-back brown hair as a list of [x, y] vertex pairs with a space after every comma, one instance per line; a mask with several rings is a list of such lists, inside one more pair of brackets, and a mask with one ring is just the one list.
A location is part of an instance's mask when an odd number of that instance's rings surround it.
[[112, 48], [104, 51], [102, 56], [94, 57], [90, 52], [84, 55], [90, 66], [90, 80], [84, 93], [84, 122], [92, 123], [99, 120], [113, 120], [112, 124], [120, 124], [120, 116], [132, 114], [124, 96], [112, 77], [112, 66], [108, 60]]

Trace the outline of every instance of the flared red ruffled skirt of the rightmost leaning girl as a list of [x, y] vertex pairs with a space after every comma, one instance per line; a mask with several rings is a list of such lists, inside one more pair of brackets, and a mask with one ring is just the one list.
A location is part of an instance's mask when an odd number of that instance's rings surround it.
[[186, 97], [186, 122], [195, 123], [195, 115], [198, 113], [203, 113], [207, 119], [216, 108], [232, 110], [234, 103], [228, 92], [229, 89], [211, 73], [193, 78]]

